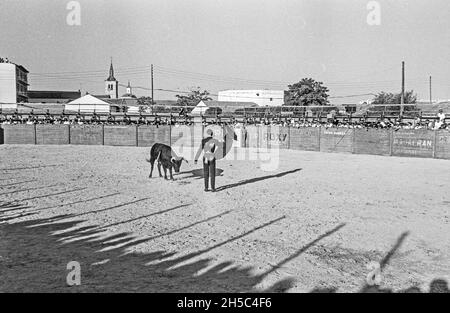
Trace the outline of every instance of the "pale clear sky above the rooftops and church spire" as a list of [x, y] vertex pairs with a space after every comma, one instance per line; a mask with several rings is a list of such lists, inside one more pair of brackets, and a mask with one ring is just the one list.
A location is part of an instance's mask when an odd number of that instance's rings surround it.
[[80, 25], [69, 2], [0, 2], [0, 56], [31, 90], [103, 94], [112, 58], [121, 94], [130, 81], [150, 95], [153, 64], [158, 100], [311, 77], [332, 103], [357, 103], [399, 92], [405, 61], [407, 90], [429, 99], [432, 76], [433, 99], [450, 99], [448, 0], [79, 0]]

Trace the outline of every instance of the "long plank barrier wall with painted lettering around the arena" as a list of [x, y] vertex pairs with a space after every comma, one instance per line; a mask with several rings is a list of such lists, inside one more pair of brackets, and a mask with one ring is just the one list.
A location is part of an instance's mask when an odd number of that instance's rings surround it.
[[[450, 132], [247, 126], [1, 125], [0, 144], [74, 144], [150, 147], [164, 143], [182, 152], [198, 147], [206, 130], [234, 138], [232, 146], [450, 159]], [[230, 143], [230, 142], [229, 142]], [[231, 145], [230, 145], [231, 147]], [[223, 151], [228, 146], [220, 147]]]

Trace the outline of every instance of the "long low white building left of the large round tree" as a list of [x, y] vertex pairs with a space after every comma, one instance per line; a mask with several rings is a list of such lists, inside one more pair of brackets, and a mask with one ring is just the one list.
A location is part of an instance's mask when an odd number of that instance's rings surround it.
[[224, 90], [219, 91], [219, 101], [253, 102], [259, 106], [281, 106], [284, 90]]

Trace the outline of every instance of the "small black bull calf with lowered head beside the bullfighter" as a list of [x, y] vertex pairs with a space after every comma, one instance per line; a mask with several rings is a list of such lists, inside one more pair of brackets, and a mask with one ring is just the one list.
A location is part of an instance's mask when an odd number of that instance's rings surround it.
[[162, 143], [155, 143], [150, 150], [150, 160], [147, 159], [147, 162], [150, 162], [151, 164], [150, 175], [148, 176], [149, 178], [152, 177], [153, 165], [155, 164], [155, 161], [158, 161], [159, 177], [162, 177], [161, 174], [161, 165], [162, 165], [164, 170], [164, 178], [167, 179], [166, 171], [168, 169], [171, 180], [173, 180], [172, 167], [175, 170], [175, 173], [179, 173], [181, 163], [183, 161], [188, 163], [188, 161], [185, 160], [183, 157], [178, 157], [171, 147]]

